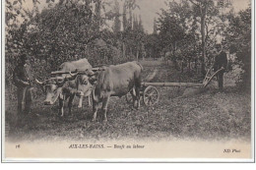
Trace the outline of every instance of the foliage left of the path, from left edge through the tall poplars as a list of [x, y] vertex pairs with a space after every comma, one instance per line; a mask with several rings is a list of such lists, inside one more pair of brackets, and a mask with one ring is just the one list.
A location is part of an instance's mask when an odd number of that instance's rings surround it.
[[[117, 1], [113, 1], [113, 9], [108, 0], [32, 0], [32, 9], [27, 9], [26, 3], [6, 3], [6, 85], [11, 93], [15, 89], [12, 72], [21, 53], [30, 55], [38, 79], [49, 77], [66, 61], [88, 58], [96, 66], [145, 56], [143, 23], [133, 14], [139, 8], [135, 0], [124, 1], [128, 19], [123, 29]], [[42, 4], [45, 7], [39, 10]], [[114, 22], [113, 31], [109, 21]]]

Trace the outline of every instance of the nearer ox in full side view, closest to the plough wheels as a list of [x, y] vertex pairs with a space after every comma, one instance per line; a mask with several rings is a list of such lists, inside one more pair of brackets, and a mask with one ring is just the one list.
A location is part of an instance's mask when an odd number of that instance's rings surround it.
[[[140, 107], [141, 73], [143, 67], [136, 61], [119, 65], [103, 66], [96, 72], [88, 71], [85, 75], [71, 74], [80, 80], [78, 90], [82, 90], [84, 83], [94, 85], [93, 95], [93, 121], [96, 121], [96, 112], [102, 102], [103, 121], [107, 121], [106, 111], [110, 96], [123, 96], [131, 92], [133, 106]], [[86, 84], [89, 84], [86, 83]], [[132, 89], [135, 89], [135, 93]], [[137, 104], [136, 104], [137, 103]]]

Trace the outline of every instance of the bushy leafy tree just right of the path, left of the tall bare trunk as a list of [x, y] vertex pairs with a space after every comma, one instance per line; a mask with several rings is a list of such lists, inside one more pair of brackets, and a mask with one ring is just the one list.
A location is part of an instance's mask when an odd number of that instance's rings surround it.
[[172, 1], [166, 5], [168, 9], [161, 9], [158, 21], [160, 46], [163, 51], [171, 51], [171, 60], [177, 68], [177, 60], [182, 60], [182, 55], [177, 55], [176, 51], [181, 48], [182, 41], [186, 38], [188, 29], [186, 23], [190, 19], [191, 12], [186, 1], [181, 1], [181, 3]]

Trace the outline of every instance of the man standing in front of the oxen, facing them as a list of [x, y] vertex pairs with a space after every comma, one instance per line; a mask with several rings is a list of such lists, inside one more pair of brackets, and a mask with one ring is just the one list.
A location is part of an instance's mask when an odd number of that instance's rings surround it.
[[28, 63], [28, 56], [22, 54], [13, 73], [14, 85], [17, 86], [18, 121], [31, 112], [33, 88], [32, 68]]

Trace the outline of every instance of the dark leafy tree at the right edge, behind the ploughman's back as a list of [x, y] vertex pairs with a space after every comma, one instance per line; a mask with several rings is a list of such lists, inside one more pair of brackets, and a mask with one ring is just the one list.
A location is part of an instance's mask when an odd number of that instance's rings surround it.
[[250, 90], [251, 85], [251, 5], [240, 11], [238, 16], [229, 15], [226, 41], [230, 53], [235, 54], [236, 62], [244, 73], [240, 77], [243, 87]]

